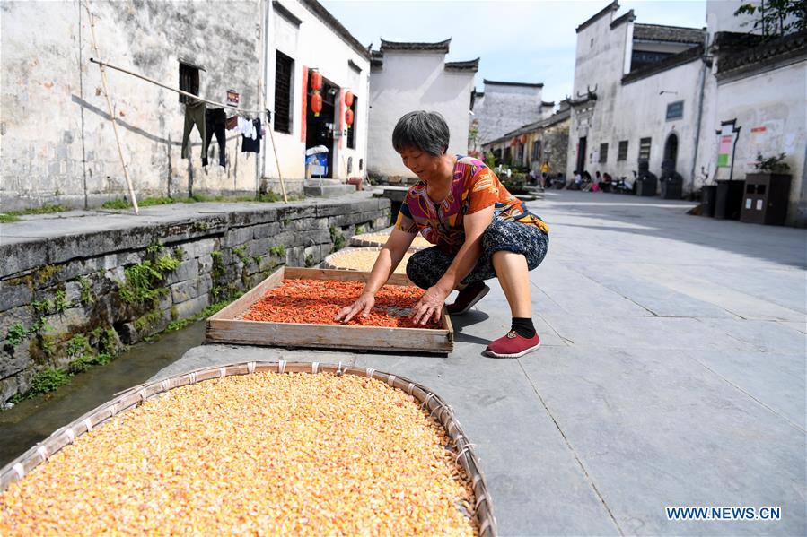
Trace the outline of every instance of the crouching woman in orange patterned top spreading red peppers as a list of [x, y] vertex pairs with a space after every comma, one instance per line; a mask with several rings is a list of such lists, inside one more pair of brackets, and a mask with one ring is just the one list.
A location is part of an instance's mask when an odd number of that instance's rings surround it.
[[497, 278], [512, 317], [510, 330], [485, 351], [494, 358], [518, 358], [540, 345], [532, 324], [529, 272], [547, 255], [548, 225], [510, 194], [484, 162], [448, 151], [443, 116], [418, 110], [401, 117], [392, 146], [418, 179], [400, 207], [390, 238], [376, 258], [361, 296], [334, 320], [367, 316], [382, 288], [419, 232], [434, 247], [413, 254], [407, 276], [423, 298], [412, 309], [416, 324], [439, 320], [452, 290], [449, 315], [462, 315], [482, 299], [486, 280]]

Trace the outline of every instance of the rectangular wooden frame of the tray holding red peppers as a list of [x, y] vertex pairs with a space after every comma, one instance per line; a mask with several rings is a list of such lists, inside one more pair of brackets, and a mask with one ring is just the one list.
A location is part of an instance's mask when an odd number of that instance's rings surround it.
[[[454, 350], [454, 331], [444, 306], [440, 316], [440, 329], [270, 323], [240, 318], [268, 290], [277, 287], [285, 279], [367, 281], [368, 276], [369, 273], [359, 271], [280, 267], [241, 299], [235, 300], [207, 319], [207, 342], [438, 354], [448, 354]], [[387, 283], [412, 285], [403, 274], [393, 274]]]

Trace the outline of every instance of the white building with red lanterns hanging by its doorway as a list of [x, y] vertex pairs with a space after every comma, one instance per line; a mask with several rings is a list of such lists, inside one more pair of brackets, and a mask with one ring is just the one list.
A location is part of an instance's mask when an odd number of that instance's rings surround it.
[[[370, 50], [359, 43], [316, 0], [274, 0], [270, 3], [267, 101], [274, 103], [275, 141], [284, 178], [297, 184], [305, 176], [305, 150], [324, 145], [325, 178], [344, 182], [367, 175], [370, 125]], [[322, 111], [311, 110], [311, 73], [323, 78]], [[350, 91], [353, 102], [346, 106]], [[353, 125], [346, 111], [353, 112]], [[275, 181], [274, 156], [264, 158], [263, 176]]]

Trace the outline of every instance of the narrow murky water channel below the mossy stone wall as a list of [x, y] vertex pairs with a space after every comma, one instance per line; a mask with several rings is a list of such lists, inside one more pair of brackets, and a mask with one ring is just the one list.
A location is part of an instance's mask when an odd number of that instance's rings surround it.
[[204, 340], [205, 321], [197, 321], [178, 332], [163, 334], [154, 342], [138, 343], [106, 366], [75, 376], [55, 392], [0, 411], [0, 467], [121, 390], [154, 377]]

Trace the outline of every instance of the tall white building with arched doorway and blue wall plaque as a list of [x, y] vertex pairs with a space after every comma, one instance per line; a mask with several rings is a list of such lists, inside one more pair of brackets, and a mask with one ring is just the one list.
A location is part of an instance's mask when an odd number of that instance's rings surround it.
[[630, 177], [639, 160], [692, 175], [706, 30], [638, 24], [612, 2], [577, 27], [566, 173]]

